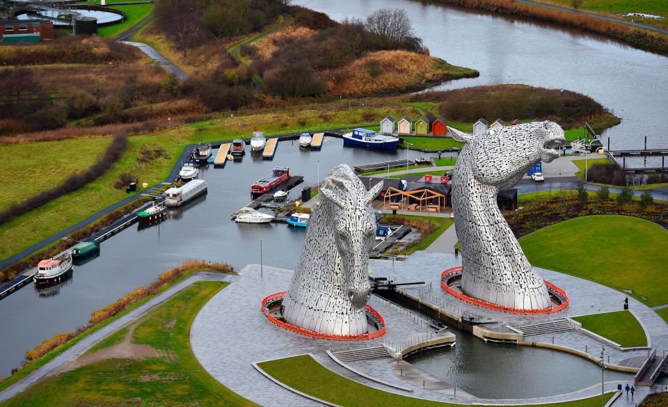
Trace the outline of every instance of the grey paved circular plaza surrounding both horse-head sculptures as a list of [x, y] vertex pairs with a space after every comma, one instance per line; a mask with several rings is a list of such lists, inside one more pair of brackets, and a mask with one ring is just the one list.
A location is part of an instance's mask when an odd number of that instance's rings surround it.
[[[443, 253], [429, 253], [418, 251], [404, 262], [386, 260], [372, 260], [370, 266], [374, 276], [396, 278], [397, 281], [424, 280], [427, 285], [406, 289], [413, 295], [420, 296], [426, 301], [435, 300], [439, 305], [445, 305], [450, 310], [458, 309], [460, 312], [469, 309], [485, 319], [498, 321], [497, 326], [505, 324], [523, 325], [530, 322], [538, 322], [539, 319], [551, 319], [564, 317], [566, 315], [591, 314], [596, 312], [608, 312], [620, 310], [626, 297], [608, 287], [598, 285], [594, 282], [582, 280], [572, 276], [566, 276], [554, 271], [537, 269], [543, 278], [555, 283], [558, 287], [566, 290], [571, 298], [571, 306], [559, 314], [551, 314], [543, 317], [523, 317], [501, 312], [488, 311], [468, 303], [463, 303], [447, 296], [440, 289], [440, 273], [452, 266], [461, 264], [461, 260], [454, 255]], [[269, 294], [285, 291], [292, 278], [292, 271], [276, 269], [264, 266], [262, 276], [259, 265], [249, 265], [241, 271], [240, 276], [234, 282], [214, 296], [200, 311], [191, 330], [191, 344], [196, 358], [202, 367], [216, 380], [237, 392], [242, 397], [266, 406], [289, 405], [289, 406], [311, 406], [315, 401], [301, 397], [289, 390], [271, 383], [267, 378], [257, 372], [253, 362], [271, 360], [296, 356], [303, 353], [312, 353], [315, 358], [333, 372], [351, 378], [365, 385], [372, 386], [387, 392], [395, 392], [410, 397], [423, 397], [426, 399], [456, 402], [461, 404], [495, 403], [495, 404], [541, 404], [557, 401], [567, 401], [582, 397], [591, 397], [600, 394], [600, 385], [562, 394], [552, 397], [541, 397], [537, 399], [514, 399], [514, 400], [489, 400], [477, 399], [458, 389], [456, 396], [452, 385], [431, 376], [419, 369], [407, 367], [406, 374], [400, 376], [401, 364], [392, 358], [376, 358], [369, 360], [357, 360], [347, 364], [363, 374], [376, 378], [383, 383], [391, 383], [403, 388], [412, 388], [413, 392], [406, 392], [392, 388], [376, 381], [371, 381], [363, 376], [355, 374], [334, 362], [326, 351], [340, 351], [372, 346], [382, 343], [397, 343], [411, 340], [415, 337], [434, 335], [434, 329], [416, 319], [411, 312], [405, 312], [401, 308], [388, 303], [388, 301], [372, 296], [369, 304], [372, 305], [385, 319], [387, 334], [379, 340], [365, 342], [334, 342], [316, 340], [290, 331], [284, 330], [271, 324], [267, 317], [260, 311], [262, 298]], [[431, 285], [431, 287], [430, 287]], [[447, 304], [447, 305], [446, 305]], [[642, 322], [644, 328], [651, 337], [651, 345], [659, 349], [668, 349], [668, 325], [650, 308], [639, 301], [629, 298], [630, 309]], [[566, 333], [555, 333], [531, 337], [534, 342], [546, 342], [568, 346], [573, 349], [587, 351], [593, 356], [598, 356], [602, 342], [584, 335], [579, 331], [571, 330]], [[473, 339], [477, 340], [477, 339]], [[610, 356], [610, 362], [624, 364], [624, 360], [639, 358], [646, 355], [646, 350], [620, 351], [606, 346], [606, 355]], [[417, 383], [422, 384], [424, 388]], [[618, 382], [606, 383], [606, 390], [617, 388]], [[636, 394], [636, 399], [642, 397], [641, 390]], [[620, 397], [614, 406], [626, 405], [626, 399]], [[628, 404], [631, 405], [631, 404]]]

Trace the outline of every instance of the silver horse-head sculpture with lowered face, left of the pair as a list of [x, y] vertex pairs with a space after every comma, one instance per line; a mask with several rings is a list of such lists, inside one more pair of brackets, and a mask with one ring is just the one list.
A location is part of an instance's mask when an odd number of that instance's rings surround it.
[[370, 202], [381, 187], [382, 182], [367, 191], [345, 164], [324, 180], [283, 298], [283, 317], [290, 324], [330, 335], [368, 332], [364, 306], [376, 230]]

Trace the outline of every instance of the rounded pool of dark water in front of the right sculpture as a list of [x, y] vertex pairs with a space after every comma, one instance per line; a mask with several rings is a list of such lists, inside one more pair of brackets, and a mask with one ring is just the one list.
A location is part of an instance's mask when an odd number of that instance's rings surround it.
[[[469, 333], [450, 331], [457, 337], [455, 346], [416, 353], [406, 361], [475, 397], [547, 397], [601, 385], [601, 370], [578, 356], [483, 342]], [[605, 381], [633, 383], [633, 375], [606, 371]]]

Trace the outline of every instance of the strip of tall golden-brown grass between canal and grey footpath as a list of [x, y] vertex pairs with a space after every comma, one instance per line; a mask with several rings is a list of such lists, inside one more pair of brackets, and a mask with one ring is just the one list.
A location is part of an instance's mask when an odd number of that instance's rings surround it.
[[[185, 260], [178, 266], [175, 266], [161, 273], [160, 276], [158, 276], [158, 278], [155, 279], [150, 284], [142, 287], [137, 287], [136, 289], [132, 290], [132, 292], [129, 292], [128, 294], [125, 294], [125, 296], [119, 298], [117, 301], [114, 301], [113, 303], [106, 305], [103, 308], [100, 308], [100, 310], [93, 311], [93, 313], [90, 314], [90, 319], [88, 320], [88, 324], [86, 326], [78, 328], [76, 333], [72, 333], [69, 331], [57, 333], [56, 335], [54, 335], [54, 337], [51, 337], [45, 340], [44, 342], [38, 344], [38, 346], [35, 346], [35, 348], [26, 352], [26, 359], [35, 360], [41, 358], [42, 356], [45, 356], [49, 351], [56, 349], [58, 346], [61, 346], [62, 344], [65, 344], [67, 341], [72, 340], [74, 337], [81, 335], [81, 333], [86, 332], [86, 330], [93, 328], [93, 326], [96, 326], [97, 324], [106, 321], [106, 319], [109, 319], [114, 315], [118, 314], [119, 312], [122, 312], [130, 305], [133, 305], [134, 303], [141, 301], [143, 298], [146, 298], [147, 296], [156, 294], [159, 291], [159, 289], [164, 287], [164, 285], [167, 285], [170, 282], [174, 282], [175, 280], [177, 280], [177, 278], [182, 276], [186, 271], [197, 270], [197, 269], [213, 270], [213, 271], [219, 271], [221, 273], [234, 274], [234, 268], [227, 263], [212, 263], [212, 262], [205, 262], [204, 260], [192, 260], [192, 259]], [[13, 372], [17, 371], [18, 369], [13, 369]]]

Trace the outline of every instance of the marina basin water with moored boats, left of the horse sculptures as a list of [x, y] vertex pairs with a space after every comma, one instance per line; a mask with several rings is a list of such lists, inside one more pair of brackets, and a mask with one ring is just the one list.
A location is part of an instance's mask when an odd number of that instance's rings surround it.
[[[405, 150], [376, 152], [344, 148], [342, 144], [340, 138], [326, 137], [321, 151], [305, 151], [296, 141], [284, 141], [278, 143], [273, 161], [254, 159], [248, 150], [240, 163], [200, 168], [200, 178], [209, 184], [207, 195], [170, 209], [168, 219], [159, 225], [133, 225], [104, 241], [100, 257], [74, 266], [70, 282], [42, 293], [28, 285], [3, 298], [0, 375], [9, 374], [22, 362], [25, 352], [42, 340], [83, 326], [93, 310], [147, 284], [185, 259], [227, 262], [240, 270], [246, 264], [260, 263], [262, 239], [265, 264], [294, 269], [305, 230], [285, 223], [237, 224], [230, 215], [250, 202], [250, 185], [270, 175], [274, 166], [287, 166], [294, 175], [304, 176], [304, 183], [290, 193], [291, 198], [297, 198], [303, 186], [317, 184], [318, 166], [324, 179], [338, 163], [354, 166], [406, 158]], [[418, 156], [408, 153], [409, 158]]]

